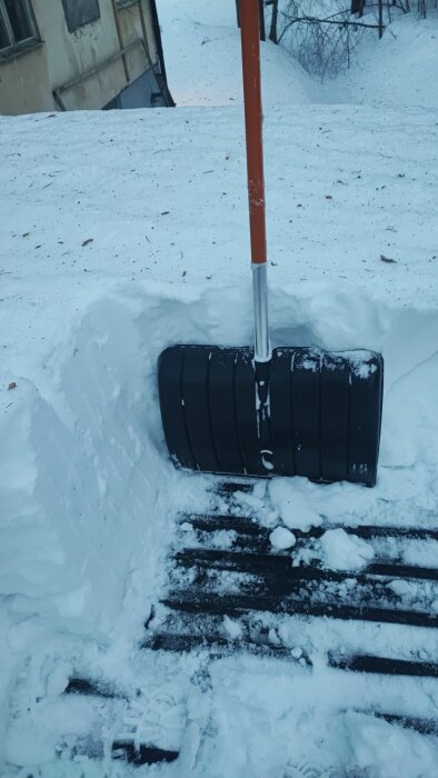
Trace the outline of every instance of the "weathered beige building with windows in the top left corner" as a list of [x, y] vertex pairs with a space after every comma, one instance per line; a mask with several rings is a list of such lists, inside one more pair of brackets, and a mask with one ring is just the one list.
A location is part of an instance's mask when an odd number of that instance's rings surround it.
[[171, 104], [155, 0], [0, 0], [0, 113]]

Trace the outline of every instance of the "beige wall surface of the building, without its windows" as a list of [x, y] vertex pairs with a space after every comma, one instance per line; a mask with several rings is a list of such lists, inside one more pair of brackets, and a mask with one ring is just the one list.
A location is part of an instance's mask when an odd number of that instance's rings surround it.
[[[149, 0], [141, 0], [150, 58], [157, 62], [157, 42]], [[61, 0], [32, 0], [42, 46], [0, 60], [0, 113], [30, 113], [59, 110], [52, 91], [94, 68], [120, 50], [112, 0], [99, 0], [100, 19], [70, 33]], [[143, 36], [138, 4], [118, 10], [122, 46]], [[102, 108], [127, 83], [148, 69], [141, 44], [122, 59], [61, 93], [67, 110]]]

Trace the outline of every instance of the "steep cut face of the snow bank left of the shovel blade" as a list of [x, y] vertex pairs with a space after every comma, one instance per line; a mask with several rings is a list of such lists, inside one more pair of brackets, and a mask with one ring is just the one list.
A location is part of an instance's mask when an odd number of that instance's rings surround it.
[[[165, 456], [158, 412], [169, 305], [166, 295], [149, 297], [141, 312], [129, 298], [94, 302], [47, 361], [44, 396], [18, 376], [6, 398], [0, 765], [7, 746], [11, 762], [31, 758], [4, 729], [17, 695], [34, 705], [38, 688], [50, 698], [48, 667], [69, 660], [80, 671], [88, 650], [94, 677], [111, 661], [120, 674], [117, 657], [131, 651], [166, 576], [178, 507], [193, 503], [191, 479]], [[56, 736], [36, 738], [44, 759]]]

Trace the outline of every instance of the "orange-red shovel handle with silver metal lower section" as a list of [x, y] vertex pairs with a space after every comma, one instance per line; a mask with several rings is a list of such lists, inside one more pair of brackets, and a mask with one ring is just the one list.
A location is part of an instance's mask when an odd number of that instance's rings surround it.
[[245, 129], [255, 316], [255, 359], [271, 359], [266, 272], [266, 218], [260, 86], [259, 1], [240, 0]]

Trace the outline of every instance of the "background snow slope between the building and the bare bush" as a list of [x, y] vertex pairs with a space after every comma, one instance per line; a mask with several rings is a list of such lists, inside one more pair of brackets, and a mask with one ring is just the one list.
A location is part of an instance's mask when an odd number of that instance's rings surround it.
[[[169, 88], [178, 106], [242, 102], [235, 0], [159, 0]], [[319, 86], [281, 47], [261, 43], [263, 104], [308, 103]]]

